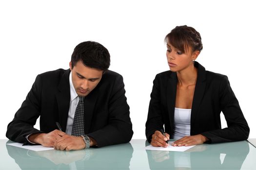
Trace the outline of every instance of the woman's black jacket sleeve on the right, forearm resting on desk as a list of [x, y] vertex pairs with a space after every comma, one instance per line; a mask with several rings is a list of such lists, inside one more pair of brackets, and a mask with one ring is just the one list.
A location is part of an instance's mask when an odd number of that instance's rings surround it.
[[228, 127], [204, 132], [202, 135], [211, 139], [210, 143], [246, 140], [250, 129], [227, 76], [223, 76], [219, 86], [219, 104]]

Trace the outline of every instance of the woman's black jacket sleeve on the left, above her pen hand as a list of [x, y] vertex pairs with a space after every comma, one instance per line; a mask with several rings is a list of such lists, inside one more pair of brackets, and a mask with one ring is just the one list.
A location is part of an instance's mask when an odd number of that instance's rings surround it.
[[158, 84], [158, 75], [153, 81], [153, 88], [151, 92], [151, 100], [149, 102], [148, 118], [146, 121], [146, 137], [151, 143], [152, 135], [156, 130], [163, 129], [164, 122], [162, 121], [162, 114], [160, 108], [160, 91]]

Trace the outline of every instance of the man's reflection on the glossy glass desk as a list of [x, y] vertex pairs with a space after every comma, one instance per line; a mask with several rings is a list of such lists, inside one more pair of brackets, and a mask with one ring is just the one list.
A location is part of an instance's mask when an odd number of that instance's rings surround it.
[[[69, 152], [57, 150], [36, 152], [11, 145], [6, 145], [6, 149], [21, 170], [101, 170], [112, 169], [113, 164], [116, 169], [129, 170], [133, 154], [130, 143], [103, 147], [100, 148], [100, 152], [97, 152], [97, 148]], [[121, 157], [120, 153], [122, 153]]]

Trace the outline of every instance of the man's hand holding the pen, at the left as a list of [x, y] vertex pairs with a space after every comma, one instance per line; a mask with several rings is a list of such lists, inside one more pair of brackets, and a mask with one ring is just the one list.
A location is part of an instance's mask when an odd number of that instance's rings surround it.
[[64, 132], [59, 130], [54, 130], [48, 134], [39, 133], [39, 134], [32, 134], [28, 136], [28, 140], [33, 143], [41, 144], [45, 147], [53, 147], [56, 140], [60, 137], [66, 135]]

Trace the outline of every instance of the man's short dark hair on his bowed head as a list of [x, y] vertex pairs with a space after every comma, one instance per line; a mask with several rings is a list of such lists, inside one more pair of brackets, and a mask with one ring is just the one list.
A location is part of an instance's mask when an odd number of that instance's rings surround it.
[[77, 45], [72, 53], [72, 68], [74, 68], [79, 61], [82, 61], [83, 65], [90, 68], [107, 70], [110, 66], [110, 54], [108, 50], [98, 42], [85, 41]]

